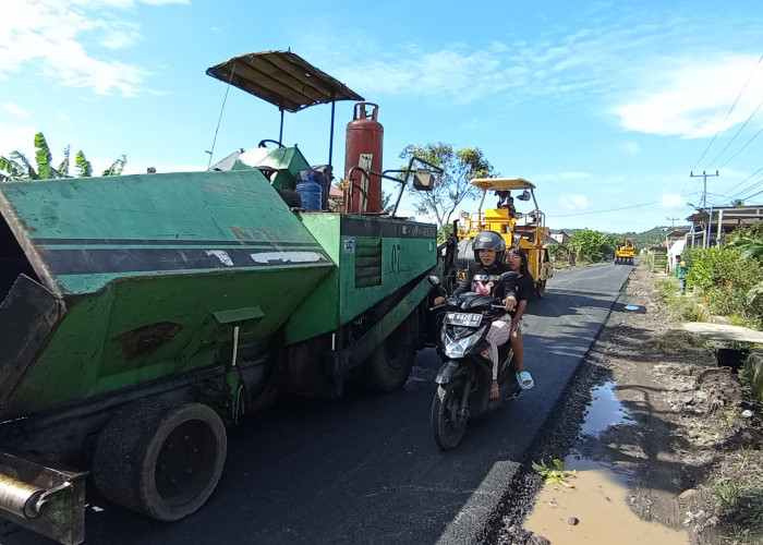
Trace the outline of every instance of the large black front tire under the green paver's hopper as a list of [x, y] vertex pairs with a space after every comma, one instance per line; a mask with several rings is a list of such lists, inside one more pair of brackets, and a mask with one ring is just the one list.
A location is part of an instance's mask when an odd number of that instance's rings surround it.
[[93, 477], [114, 504], [175, 521], [209, 498], [227, 446], [225, 425], [209, 407], [141, 401], [121, 410], [98, 435]]

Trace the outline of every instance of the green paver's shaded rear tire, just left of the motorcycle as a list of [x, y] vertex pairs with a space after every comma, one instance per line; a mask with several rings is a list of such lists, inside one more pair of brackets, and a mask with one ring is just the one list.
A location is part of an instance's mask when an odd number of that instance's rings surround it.
[[378, 393], [399, 390], [416, 359], [416, 312], [412, 312], [365, 362], [363, 386]]

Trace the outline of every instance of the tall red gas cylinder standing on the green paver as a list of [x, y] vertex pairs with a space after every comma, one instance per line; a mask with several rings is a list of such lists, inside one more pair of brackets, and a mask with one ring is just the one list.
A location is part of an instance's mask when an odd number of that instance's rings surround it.
[[[382, 172], [384, 128], [378, 122], [379, 107], [371, 102], [355, 105], [355, 113], [347, 124], [344, 173], [352, 167]], [[382, 178], [364, 175], [355, 169], [349, 178], [352, 186], [344, 192], [344, 211], [351, 214], [382, 211]]]

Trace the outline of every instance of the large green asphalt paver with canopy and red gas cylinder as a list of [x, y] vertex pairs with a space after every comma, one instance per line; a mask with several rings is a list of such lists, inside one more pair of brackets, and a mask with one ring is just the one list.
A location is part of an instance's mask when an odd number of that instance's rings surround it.
[[[182, 519], [241, 419], [350, 379], [399, 389], [421, 348], [437, 229], [378, 209], [376, 105], [290, 51], [207, 74], [276, 105], [278, 140], [206, 171], [0, 183], [0, 514], [60, 543], [84, 541], [90, 483]], [[313, 168], [283, 112], [329, 104], [334, 129], [339, 100], [360, 101], [343, 209], [306, 209], [334, 134]], [[401, 192], [431, 186], [423, 167]]]

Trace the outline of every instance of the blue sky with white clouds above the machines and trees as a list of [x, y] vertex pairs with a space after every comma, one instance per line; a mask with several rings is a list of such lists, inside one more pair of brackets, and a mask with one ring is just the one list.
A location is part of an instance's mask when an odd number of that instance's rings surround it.
[[[206, 69], [291, 49], [379, 105], [385, 169], [408, 144], [479, 147], [538, 186], [552, 228], [682, 225], [702, 201], [692, 171], [719, 172], [707, 205], [763, 203], [759, 0], [5, 0], [3, 12], [0, 155], [32, 154], [43, 131], [56, 162], [71, 145], [101, 170], [122, 154], [128, 173], [205, 169], [218, 120], [215, 160], [279, 131], [277, 108], [235, 88], [226, 99]], [[352, 110], [337, 105], [335, 167]], [[284, 144], [327, 162], [329, 120], [327, 106], [287, 113]]]

